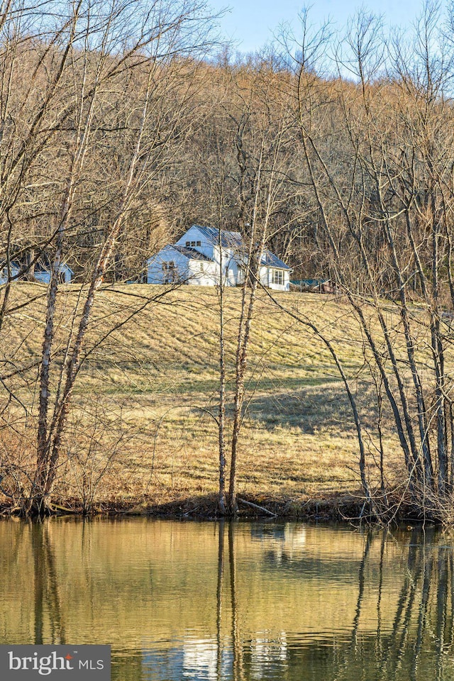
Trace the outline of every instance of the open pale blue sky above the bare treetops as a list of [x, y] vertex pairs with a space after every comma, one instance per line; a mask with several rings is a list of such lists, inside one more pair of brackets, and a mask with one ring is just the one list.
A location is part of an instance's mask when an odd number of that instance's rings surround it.
[[[442, 0], [445, 6], [449, 0]], [[230, 7], [221, 19], [223, 37], [235, 40], [241, 52], [253, 52], [262, 47], [277, 31], [279, 23], [295, 21], [304, 2], [297, 0], [209, 0], [217, 11]], [[328, 18], [341, 28], [358, 7], [384, 15], [389, 26], [408, 26], [420, 13], [419, 0], [314, 0], [308, 1], [310, 16], [315, 24]], [[296, 24], [295, 24], [296, 26]]]

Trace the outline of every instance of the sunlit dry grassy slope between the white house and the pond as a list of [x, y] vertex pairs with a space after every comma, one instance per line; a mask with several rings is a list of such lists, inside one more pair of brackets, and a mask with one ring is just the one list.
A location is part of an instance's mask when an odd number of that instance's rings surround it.
[[[60, 296], [54, 388], [79, 294], [79, 288], [68, 286]], [[14, 296], [16, 301], [37, 297], [9, 316], [4, 333], [6, 354], [30, 365], [40, 354], [45, 288], [18, 284]], [[375, 437], [376, 414], [368, 397], [372, 387], [363, 367], [360, 333], [345, 301], [299, 293], [277, 294], [277, 299], [316, 321], [333, 342], [353, 381], [365, 427]], [[240, 290], [230, 289], [228, 414], [239, 313]], [[112, 331], [118, 324], [122, 326]], [[67, 458], [57, 486], [62, 499], [167, 502], [216, 491], [218, 333], [216, 289], [169, 292], [165, 287], [124, 285], [101, 291], [87, 338], [89, 355], [72, 402]], [[20, 436], [11, 429], [2, 431], [3, 451], [16, 452], [22, 462], [33, 458], [36, 375], [32, 368], [14, 378], [13, 388], [28, 407], [26, 424], [21, 408], [16, 409]], [[384, 426], [392, 453], [394, 434]], [[376, 477], [374, 455], [371, 448], [368, 463]], [[394, 458], [390, 461], [392, 477]], [[331, 355], [265, 292], [255, 309], [238, 476], [239, 493], [259, 501], [304, 501], [360, 487], [355, 427]]]

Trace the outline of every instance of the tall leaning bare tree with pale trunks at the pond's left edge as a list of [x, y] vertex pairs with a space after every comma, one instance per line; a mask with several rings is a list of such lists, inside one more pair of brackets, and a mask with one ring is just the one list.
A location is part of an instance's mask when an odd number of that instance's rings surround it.
[[[43, 514], [74, 384], [87, 355], [96, 294], [141, 206], [148, 202], [162, 215], [159, 178], [175, 155], [175, 140], [184, 139], [196, 116], [191, 102], [199, 60], [188, 57], [203, 56], [209, 48], [211, 22], [203, 4], [142, 0], [108, 6], [95, 0], [43, 2], [38, 9], [10, 5], [3, 18], [0, 218], [6, 224], [6, 284], [0, 292], [0, 324], [18, 309], [10, 303], [14, 280], [31, 278], [43, 255], [52, 263], [39, 371], [37, 459], [24, 506], [26, 513]], [[21, 73], [25, 63], [26, 75]], [[150, 229], [160, 220], [148, 218]], [[35, 236], [24, 240], [30, 225]], [[87, 287], [76, 297], [68, 332], [62, 332], [57, 313], [62, 262], [77, 258], [79, 243], [90, 234], [94, 258], [84, 262], [81, 277]], [[149, 243], [150, 238], [149, 233]], [[13, 257], [26, 263], [17, 273]], [[17, 362], [14, 366], [24, 370]]]

